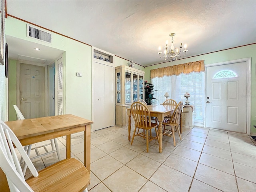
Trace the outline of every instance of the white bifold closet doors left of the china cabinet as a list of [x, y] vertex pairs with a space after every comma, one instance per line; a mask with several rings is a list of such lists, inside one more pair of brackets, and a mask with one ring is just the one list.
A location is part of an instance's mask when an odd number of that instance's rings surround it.
[[114, 69], [93, 62], [93, 130], [114, 126]]

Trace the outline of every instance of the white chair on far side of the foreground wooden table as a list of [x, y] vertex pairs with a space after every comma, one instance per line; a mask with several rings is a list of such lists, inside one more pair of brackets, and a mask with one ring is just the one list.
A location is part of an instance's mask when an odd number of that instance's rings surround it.
[[[20, 109], [18, 108], [18, 106], [14, 105], [13, 107], [14, 107], [14, 109], [16, 111], [18, 120], [25, 119], [24, 116], [22, 115]], [[46, 146], [48, 146], [48, 145], [52, 146], [52, 151], [48, 151], [48, 149], [46, 148]], [[54, 146], [55, 146], [56, 149], [54, 149]], [[30, 155], [30, 151], [31, 150], [35, 150], [36, 156], [30, 158], [31, 160], [39, 158], [39, 157], [42, 157], [42, 156], [45, 156], [45, 155], [48, 155], [48, 154], [51, 154], [51, 153], [54, 153], [54, 152], [57, 153], [58, 160], [59, 161], [61, 160], [61, 158], [60, 158], [60, 150], [59, 150], [59, 146], [58, 146], [58, 142], [57, 142], [56, 138], [51, 139], [51, 143], [44, 144], [44, 145], [41, 145], [41, 146], [38, 146], [38, 147], [34, 147], [34, 148], [31, 148], [31, 147], [32, 147], [32, 145], [27, 145], [27, 146], [24, 147], [24, 150], [27, 152], [28, 156]], [[43, 147], [44, 150], [45, 150], [44, 154], [39, 154], [39, 152], [38, 152], [38, 148], [41, 148], [41, 147]], [[22, 163], [22, 162], [23, 162], [23, 158], [20, 159], [20, 163]], [[24, 164], [23, 175], [25, 175], [26, 169], [27, 169], [27, 165]]]

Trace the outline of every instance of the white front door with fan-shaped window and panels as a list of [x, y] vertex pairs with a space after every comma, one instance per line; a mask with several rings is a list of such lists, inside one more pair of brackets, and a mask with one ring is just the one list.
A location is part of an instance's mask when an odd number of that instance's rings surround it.
[[206, 68], [206, 127], [246, 133], [247, 64]]

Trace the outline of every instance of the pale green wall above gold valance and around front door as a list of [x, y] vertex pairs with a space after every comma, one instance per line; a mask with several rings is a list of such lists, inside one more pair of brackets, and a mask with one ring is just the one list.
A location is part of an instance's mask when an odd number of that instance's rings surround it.
[[187, 59], [180, 59], [174, 62], [166, 62], [162, 64], [157, 64], [153, 66], [148, 66], [145, 68], [145, 79], [150, 81], [150, 70], [167, 67], [172, 65], [178, 65], [198, 60], [204, 60], [204, 64], [213, 64], [218, 62], [242, 59], [242, 58], [252, 58], [251, 60], [251, 132], [256, 133], [256, 44], [233, 48], [229, 50], [224, 50], [220, 52], [205, 54], [202, 56], [196, 56]]

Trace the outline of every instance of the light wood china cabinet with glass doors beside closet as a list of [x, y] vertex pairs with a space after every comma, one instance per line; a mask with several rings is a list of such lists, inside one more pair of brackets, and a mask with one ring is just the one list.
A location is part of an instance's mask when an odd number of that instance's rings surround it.
[[116, 125], [126, 125], [126, 107], [144, 99], [145, 72], [129, 66], [118, 66], [116, 71]]

